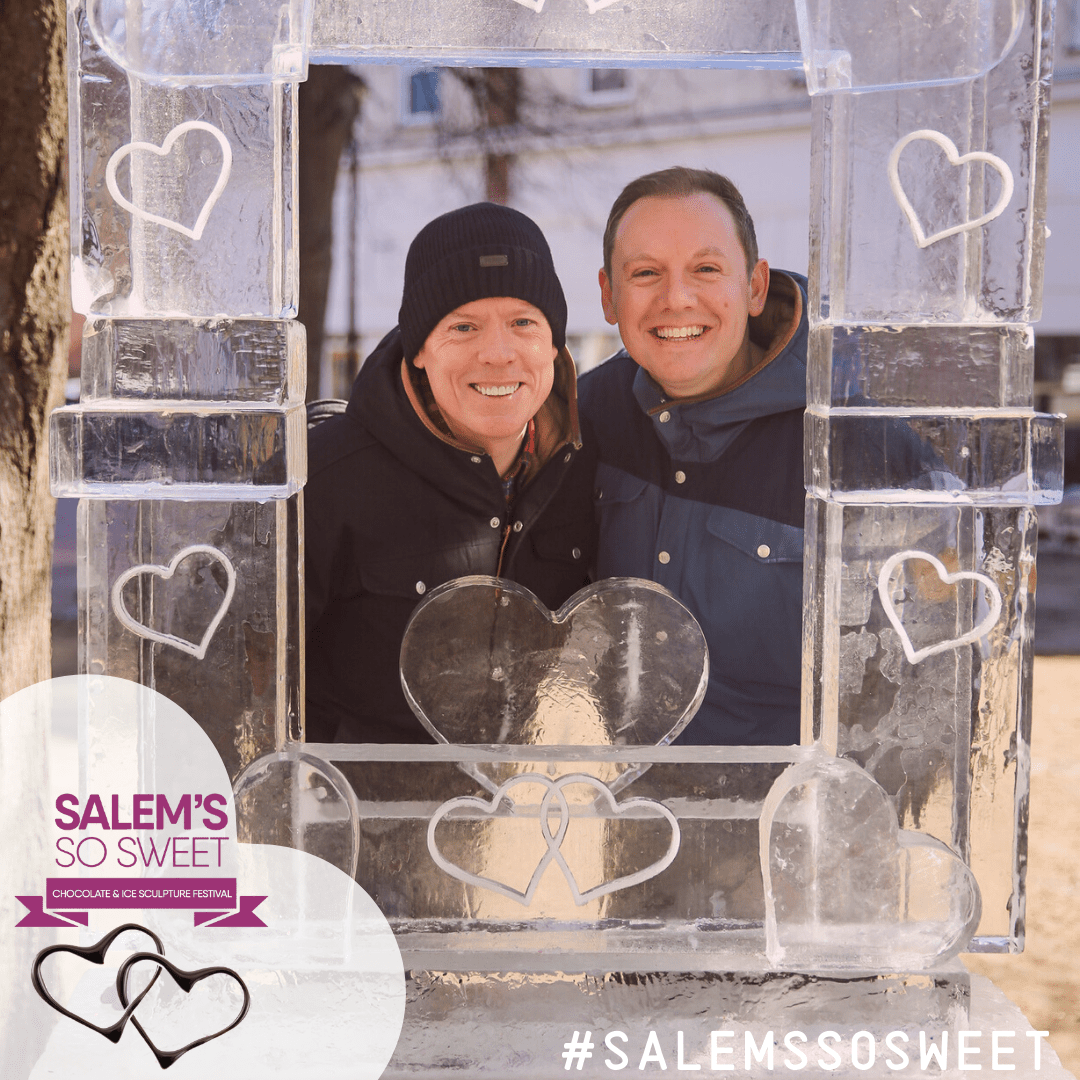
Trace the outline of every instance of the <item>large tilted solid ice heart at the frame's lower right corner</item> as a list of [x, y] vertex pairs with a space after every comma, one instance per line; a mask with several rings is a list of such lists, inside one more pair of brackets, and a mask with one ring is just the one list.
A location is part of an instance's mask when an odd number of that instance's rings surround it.
[[761, 808], [766, 953], [799, 969], [918, 971], [961, 951], [982, 912], [951, 849], [901, 829], [854, 761], [793, 766]]

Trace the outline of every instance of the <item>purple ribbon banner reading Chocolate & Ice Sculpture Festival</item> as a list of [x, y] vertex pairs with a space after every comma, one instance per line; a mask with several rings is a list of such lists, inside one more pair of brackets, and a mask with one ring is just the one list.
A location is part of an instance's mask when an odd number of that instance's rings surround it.
[[149, 907], [189, 908], [197, 927], [266, 926], [255, 914], [266, 896], [238, 895], [235, 878], [45, 878], [44, 896], [15, 899], [28, 912], [19, 927], [85, 927], [91, 908]]

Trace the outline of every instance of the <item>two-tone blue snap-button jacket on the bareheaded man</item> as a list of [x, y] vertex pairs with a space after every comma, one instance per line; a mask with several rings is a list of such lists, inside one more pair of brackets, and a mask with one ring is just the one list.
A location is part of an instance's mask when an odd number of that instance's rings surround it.
[[597, 576], [659, 582], [708, 642], [681, 743], [799, 740], [806, 310], [806, 280], [773, 271], [751, 320], [765, 361], [706, 401], [667, 400], [625, 351], [579, 384], [599, 454]]

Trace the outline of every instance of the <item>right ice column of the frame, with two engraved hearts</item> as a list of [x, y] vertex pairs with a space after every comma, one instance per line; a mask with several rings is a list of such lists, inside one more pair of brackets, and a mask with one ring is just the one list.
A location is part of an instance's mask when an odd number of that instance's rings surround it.
[[983, 891], [976, 945], [1007, 947], [1023, 941], [1035, 508], [1062, 488], [1030, 327], [1052, 5], [798, 6], [814, 95], [804, 741], [960, 853]]

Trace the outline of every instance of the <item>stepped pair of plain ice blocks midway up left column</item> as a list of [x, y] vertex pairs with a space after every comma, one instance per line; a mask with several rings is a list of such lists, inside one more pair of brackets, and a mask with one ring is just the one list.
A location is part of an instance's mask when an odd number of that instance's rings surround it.
[[307, 478], [305, 333], [288, 320], [97, 319], [53, 414], [53, 494], [282, 499]]

